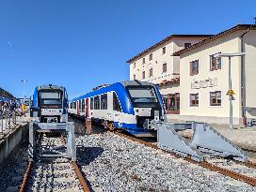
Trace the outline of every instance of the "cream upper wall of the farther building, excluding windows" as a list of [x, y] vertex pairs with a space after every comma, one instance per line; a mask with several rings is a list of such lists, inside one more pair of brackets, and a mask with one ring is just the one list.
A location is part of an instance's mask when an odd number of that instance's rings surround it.
[[[173, 56], [173, 52], [178, 52], [184, 49], [184, 43], [197, 43], [204, 37], [183, 37], [172, 38], [165, 44], [158, 48], [147, 52], [145, 55], [137, 58], [130, 63], [130, 80], [138, 81], [150, 81], [152, 83], [159, 83], [161, 81], [169, 81], [173, 78], [180, 76], [180, 61], [179, 57]], [[166, 47], [166, 53], [163, 54], [162, 49]], [[152, 53], [152, 61], [149, 60]], [[143, 58], [145, 58], [145, 64], [143, 64]], [[136, 67], [135, 67], [136, 63]], [[167, 72], [163, 73], [163, 64], [167, 63]], [[152, 68], [152, 77], [150, 77], [150, 69]], [[145, 71], [145, 79], [142, 79], [142, 71]]]

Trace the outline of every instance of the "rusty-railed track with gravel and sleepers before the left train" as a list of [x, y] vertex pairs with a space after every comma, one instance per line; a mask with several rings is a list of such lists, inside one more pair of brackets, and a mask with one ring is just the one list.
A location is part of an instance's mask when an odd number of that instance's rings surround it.
[[[65, 149], [65, 139], [42, 135], [34, 160], [29, 159], [19, 186], [24, 191], [84, 191], [89, 187], [75, 161], [54, 152]], [[53, 152], [50, 156], [49, 154]]]

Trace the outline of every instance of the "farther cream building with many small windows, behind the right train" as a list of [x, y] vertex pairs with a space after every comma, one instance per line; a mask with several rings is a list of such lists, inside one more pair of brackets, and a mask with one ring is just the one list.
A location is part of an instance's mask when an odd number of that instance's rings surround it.
[[180, 112], [180, 57], [178, 52], [212, 35], [171, 35], [138, 53], [130, 64], [130, 80], [159, 84], [168, 114]]

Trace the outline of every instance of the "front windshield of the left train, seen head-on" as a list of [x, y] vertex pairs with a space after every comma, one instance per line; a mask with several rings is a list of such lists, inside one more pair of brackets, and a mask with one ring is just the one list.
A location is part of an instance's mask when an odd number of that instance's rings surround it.
[[59, 90], [40, 91], [41, 108], [62, 108], [62, 92]]

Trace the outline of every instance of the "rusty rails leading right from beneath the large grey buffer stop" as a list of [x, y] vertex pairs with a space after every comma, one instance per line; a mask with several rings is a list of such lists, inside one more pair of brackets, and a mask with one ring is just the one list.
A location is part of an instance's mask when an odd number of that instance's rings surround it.
[[[120, 131], [115, 131], [115, 133], [118, 134], [120, 137], [124, 137], [126, 139], [136, 141], [136, 142], [138, 142], [140, 144], [143, 144], [145, 146], [151, 147], [153, 149], [161, 150], [161, 151], [163, 151], [165, 153], [168, 153], [170, 155], [174, 155], [174, 156], [176, 156], [178, 158], [183, 158], [181, 155], [177, 155], [177, 154], [175, 154], [173, 152], [169, 152], [169, 151], [166, 151], [166, 150], [158, 148], [157, 144], [153, 143], [152, 141], [141, 140], [141, 139], [135, 138], [133, 136], [129, 136], [129, 135], [123, 134]], [[223, 167], [217, 166], [216, 164], [208, 162], [208, 161], [197, 162], [197, 161], [191, 159], [189, 156], [184, 157], [184, 160], [186, 160], [186, 161], [188, 161], [190, 163], [199, 165], [202, 168], [205, 168], [205, 169], [208, 169], [208, 170], [212, 170], [212, 171], [216, 171], [216, 172], [221, 173], [221, 174], [223, 174], [225, 176], [231, 177], [232, 179], [245, 182], [248, 185], [256, 186], [256, 179], [255, 178], [249, 177], [249, 176], [247, 176], [245, 174], [242, 174], [242, 173], [239, 173], [237, 171], [225, 169]], [[234, 161], [234, 162], [236, 162], [236, 161]], [[245, 166], [245, 167], [247, 167], [249, 169], [255, 169], [256, 168], [256, 164], [252, 163], [252, 162], [249, 162], [249, 161], [246, 162], [246, 163], [241, 163], [241, 162], [236, 162], [236, 163], [242, 164], [243, 166]]]

